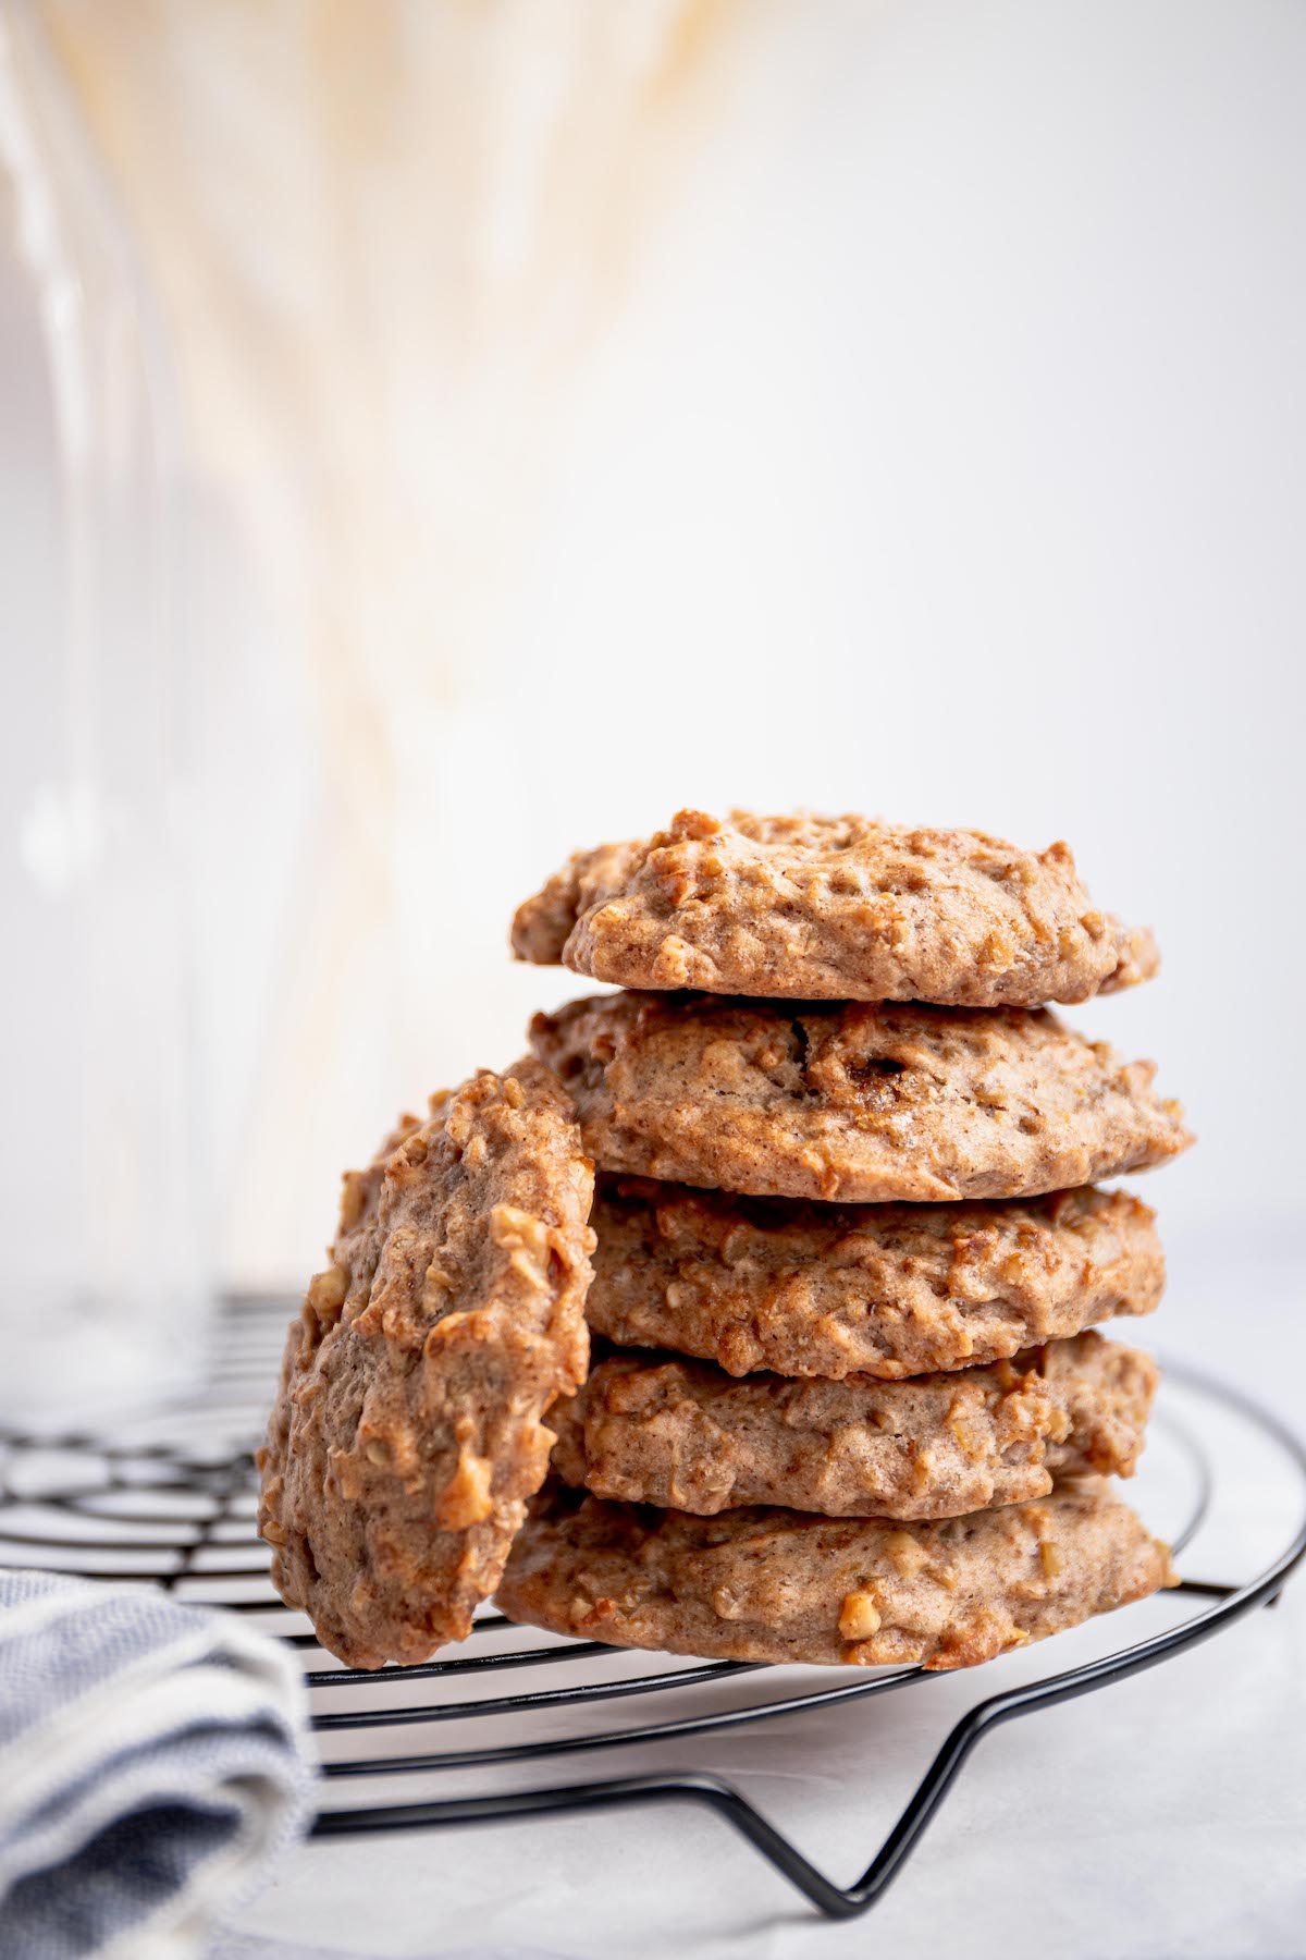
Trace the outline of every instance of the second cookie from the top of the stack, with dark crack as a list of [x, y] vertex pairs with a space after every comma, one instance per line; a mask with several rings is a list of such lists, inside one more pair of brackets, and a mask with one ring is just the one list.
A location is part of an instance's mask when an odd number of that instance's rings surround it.
[[1192, 1141], [1151, 1062], [1048, 1009], [605, 994], [531, 1043], [603, 1170], [762, 1198], [1028, 1198]]

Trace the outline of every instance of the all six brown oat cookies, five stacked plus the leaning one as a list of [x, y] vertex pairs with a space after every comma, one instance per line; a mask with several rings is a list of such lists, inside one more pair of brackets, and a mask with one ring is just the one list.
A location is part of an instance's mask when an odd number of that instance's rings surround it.
[[1104, 1482], [1155, 1370], [1093, 1331], [1161, 1252], [1093, 1180], [1189, 1135], [1042, 1005], [1155, 968], [1063, 845], [683, 813], [513, 943], [627, 992], [345, 1178], [258, 1456], [325, 1646], [425, 1660], [497, 1590], [615, 1644], [956, 1668], [1167, 1584]]

